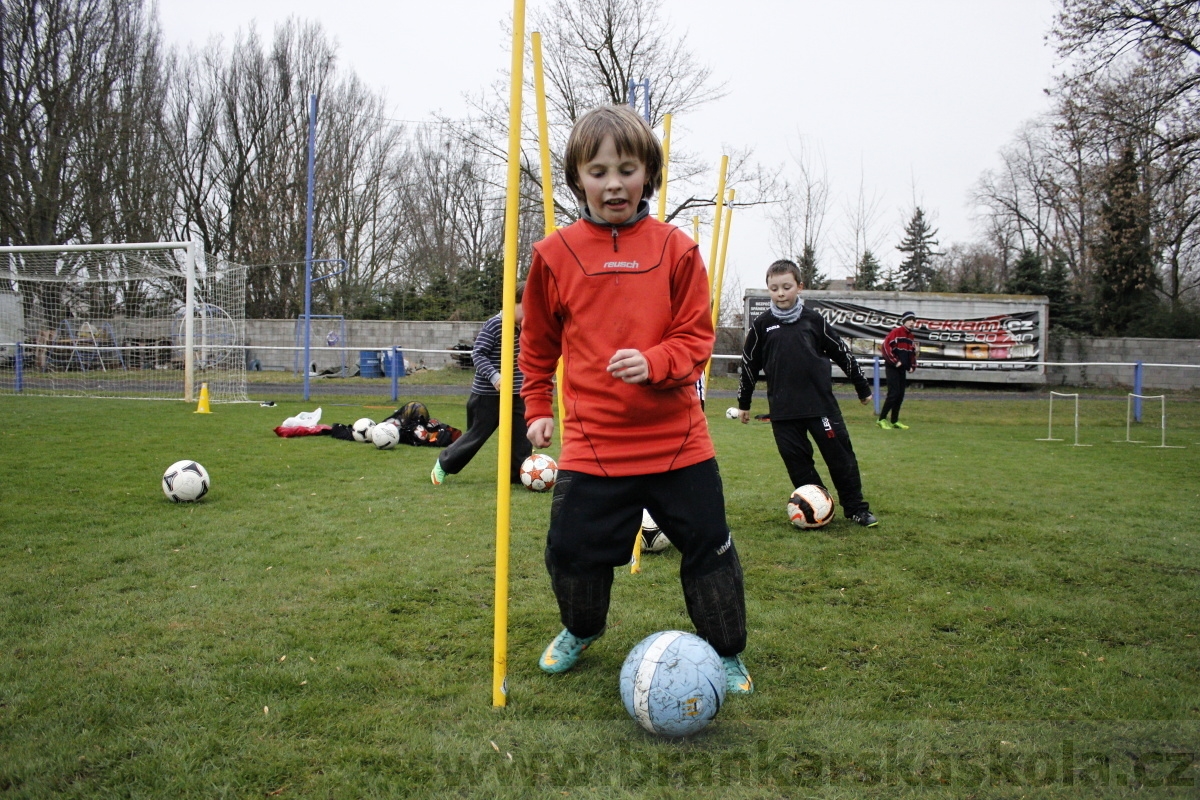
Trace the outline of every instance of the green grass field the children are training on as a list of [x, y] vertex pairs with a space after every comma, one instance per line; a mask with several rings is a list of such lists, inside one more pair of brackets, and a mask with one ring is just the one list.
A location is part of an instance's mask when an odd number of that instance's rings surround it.
[[[757, 692], [684, 741], [617, 685], [691, 630], [678, 554], [619, 571], [606, 637], [545, 675], [550, 498], [523, 489], [492, 708], [494, 441], [433, 487], [436, 450], [272, 433], [318, 403], [0, 397], [0, 795], [1198, 796], [1200, 403], [1169, 398], [1163, 450], [1086, 397], [1073, 447], [1057, 405], [1067, 441], [1036, 440], [1044, 395], [995, 397], [910, 399], [907, 432], [844, 401], [881, 524], [820, 531], [786, 522], [769, 426], [713, 401]], [[408, 399], [464, 426], [466, 397]], [[200, 503], [162, 494], [180, 458]]]

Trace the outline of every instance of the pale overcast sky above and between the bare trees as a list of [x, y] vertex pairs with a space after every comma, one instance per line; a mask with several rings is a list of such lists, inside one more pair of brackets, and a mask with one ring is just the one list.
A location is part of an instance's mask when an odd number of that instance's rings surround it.
[[[181, 46], [229, 43], [251, 23], [269, 41], [288, 16], [319, 20], [342, 66], [385, 92], [403, 120], [464, 115], [464, 95], [502, 78], [511, 58], [509, 0], [158, 1], [168, 43]], [[527, 0], [527, 13], [539, 1]], [[971, 187], [1021, 124], [1049, 109], [1056, 8], [1055, 0], [662, 0], [671, 29], [727, 90], [673, 120], [673, 148], [712, 161], [715, 192], [730, 149], [794, 166], [803, 146], [832, 188], [818, 263], [828, 277], [847, 273], [836, 246], [860, 184], [877, 201], [872, 233], [884, 264], [899, 261], [914, 201], [943, 247], [974, 240]], [[742, 288], [762, 283], [779, 255], [773, 239], [764, 210], [734, 213], [726, 269]]]

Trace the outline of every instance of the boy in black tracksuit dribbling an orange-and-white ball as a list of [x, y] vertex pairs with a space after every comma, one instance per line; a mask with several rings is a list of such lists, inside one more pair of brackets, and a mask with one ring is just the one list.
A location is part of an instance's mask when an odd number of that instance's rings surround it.
[[829, 468], [846, 517], [865, 528], [877, 525], [878, 521], [863, 499], [858, 459], [833, 395], [829, 362], [841, 367], [853, 381], [864, 405], [871, 399], [866, 377], [824, 318], [804, 307], [799, 297], [800, 270], [794, 263], [772, 264], [767, 270], [767, 288], [770, 311], [754, 321], [742, 351], [739, 417], [743, 423], [750, 421], [750, 398], [761, 369], [767, 374], [772, 432], [792, 486], [824, 486], [812, 461], [811, 435]]

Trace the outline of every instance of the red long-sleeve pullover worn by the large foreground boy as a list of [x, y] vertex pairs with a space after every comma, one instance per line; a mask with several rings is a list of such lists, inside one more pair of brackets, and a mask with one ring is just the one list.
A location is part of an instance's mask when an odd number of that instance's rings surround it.
[[[695, 390], [715, 341], [708, 275], [683, 230], [575, 222], [534, 245], [522, 307], [527, 422], [552, 416], [563, 357], [562, 469], [649, 475], [714, 456]], [[607, 372], [625, 348], [646, 356], [648, 383]]]

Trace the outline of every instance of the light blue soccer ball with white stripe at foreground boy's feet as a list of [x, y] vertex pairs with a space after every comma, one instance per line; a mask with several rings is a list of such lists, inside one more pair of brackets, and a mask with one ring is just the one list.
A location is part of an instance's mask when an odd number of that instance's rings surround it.
[[620, 699], [640, 726], [662, 736], [690, 736], [725, 702], [725, 666], [695, 633], [661, 631], [629, 651]]

